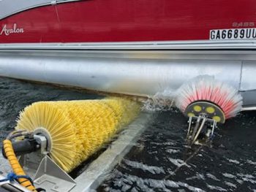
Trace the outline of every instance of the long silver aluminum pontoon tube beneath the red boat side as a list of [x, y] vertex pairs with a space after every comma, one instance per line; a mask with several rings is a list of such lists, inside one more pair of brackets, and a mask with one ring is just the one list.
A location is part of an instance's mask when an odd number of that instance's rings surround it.
[[[0, 53], [0, 75], [72, 85], [97, 91], [152, 96], [176, 90], [197, 75], [209, 74], [244, 94], [256, 90], [254, 51], [58, 51], [12, 50]], [[246, 96], [245, 105], [256, 104]]]

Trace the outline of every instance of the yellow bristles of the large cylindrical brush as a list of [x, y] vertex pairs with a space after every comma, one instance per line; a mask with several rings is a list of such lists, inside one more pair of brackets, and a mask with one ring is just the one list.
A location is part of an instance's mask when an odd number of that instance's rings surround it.
[[20, 112], [16, 129], [45, 128], [52, 142], [50, 157], [70, 172], [139, 111], [140, 105], [129, 99], [40, 101]]

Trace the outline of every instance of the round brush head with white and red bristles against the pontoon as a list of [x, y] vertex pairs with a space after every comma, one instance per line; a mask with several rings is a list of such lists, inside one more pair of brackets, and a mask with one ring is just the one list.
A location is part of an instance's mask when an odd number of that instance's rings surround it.
[[[242, 97], [238, 90], [223, 82], [214, 80], [214, 77], [211, 76], [195, 77], [195, 79], [184, 83], [178, 89], [175, 103], [181, 112], [187, 113], [185, 112], [187, 107], [196, 101], [213, 104], [212, 107], [217, 110], [220, 108], [224, 115], [224, 121], [227, 118], [235, 117], [242, 108]], [[194, 106], [195, 111], [200, 111], [200, 106], [197, 106]], [[214, 111], [213, 108], [208, 108], [209, 113]], [[218, 118], [217, 121], [220, 121], [220, 119]]]

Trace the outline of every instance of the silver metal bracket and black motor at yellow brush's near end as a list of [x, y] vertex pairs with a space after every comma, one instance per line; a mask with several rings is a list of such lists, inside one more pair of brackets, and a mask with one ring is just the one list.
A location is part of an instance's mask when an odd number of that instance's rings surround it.
[[[70, 191], [76, 185], [75, 180], [48, 156], [48, 150], [51, 147], [49, 138], [48, 132], [44, 128], [37, 128], [31, 137], [14, 142], [13, 146], [17, 149], [17, 154], [20, 155], [20, 165], [26, 170], [26, 174], [34, 180], [36, 188], [56, 192]], [[12, 183], [7, 184], [11, 185]], [[20, 187], [20, 191], [27, 191], [26, 188], [17, 185]]]

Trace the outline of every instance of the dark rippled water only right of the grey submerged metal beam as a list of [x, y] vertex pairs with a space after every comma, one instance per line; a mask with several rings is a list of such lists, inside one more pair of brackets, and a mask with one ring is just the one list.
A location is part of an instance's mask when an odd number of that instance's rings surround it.
[[[253, 191], [255, 189], [255, 112], [227, 120], [212, 147], [185, 142], [187, 120], [173, 111], [155, 112], [154, 121], [98, 191]], [[247, 124], [247, 122], [251, 122]], [[140, 162], [132, 165], [125, 162]], [[124, 166], [125, 165], [125, 166]], [[165, 172], [148, 172], [143, 165]], [[144, 169], [144, 170], [143, 170]], [[122, 180], [129, 180], [129, 183]], [[120, 187], [116, 183], [120, 182]], [[106, 190], [108, 188], [108, 190]]]

